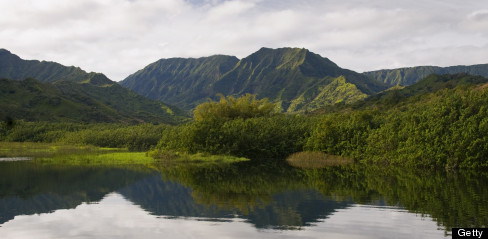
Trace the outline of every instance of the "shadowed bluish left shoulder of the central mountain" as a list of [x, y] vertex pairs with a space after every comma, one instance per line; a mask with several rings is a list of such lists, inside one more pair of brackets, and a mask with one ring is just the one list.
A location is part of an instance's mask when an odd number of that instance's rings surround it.
[[188, 110], [215, 96], [213, 84], [238, 61], [236, 57], [223, 55], [162, 59], [120, 84], [148, 98]]

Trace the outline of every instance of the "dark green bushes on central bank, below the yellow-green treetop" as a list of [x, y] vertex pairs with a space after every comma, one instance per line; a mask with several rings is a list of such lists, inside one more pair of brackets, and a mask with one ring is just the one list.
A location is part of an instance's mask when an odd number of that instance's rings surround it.
[[156, 148], [246, 158], [284, 158], [301, 151], [310, 120], [300, 116], [202, 120], [166, 130]]

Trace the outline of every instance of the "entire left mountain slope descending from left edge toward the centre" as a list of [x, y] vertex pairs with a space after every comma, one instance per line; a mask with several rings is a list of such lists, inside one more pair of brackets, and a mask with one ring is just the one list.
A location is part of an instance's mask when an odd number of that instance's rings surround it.
[[[27, 78], [23, 78], [27, 77]], [[147, 99], [100, 73], [23, 60], [0, 50], [0, 119], [175, 124], [185, 113]]]

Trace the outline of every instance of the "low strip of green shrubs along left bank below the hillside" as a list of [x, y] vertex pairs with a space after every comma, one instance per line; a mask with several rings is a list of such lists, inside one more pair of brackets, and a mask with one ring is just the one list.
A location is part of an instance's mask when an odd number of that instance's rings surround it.
[[164, 124], [78, 124], [8, 119], [0, 123], [0, 141], [82, 144], [147, 151], [158, 143], [168, 127]]

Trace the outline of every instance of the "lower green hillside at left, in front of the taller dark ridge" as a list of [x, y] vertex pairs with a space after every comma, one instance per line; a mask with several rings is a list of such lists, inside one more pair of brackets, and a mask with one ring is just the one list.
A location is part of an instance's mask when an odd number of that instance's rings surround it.
[[0, 118], [27, 121], [158, 122], [183, 119], [178, 109], [148, 100], [115, 82], [0, 80]]

